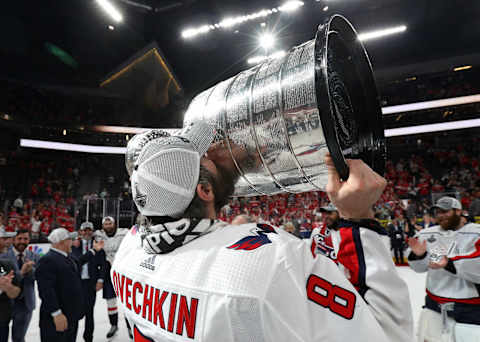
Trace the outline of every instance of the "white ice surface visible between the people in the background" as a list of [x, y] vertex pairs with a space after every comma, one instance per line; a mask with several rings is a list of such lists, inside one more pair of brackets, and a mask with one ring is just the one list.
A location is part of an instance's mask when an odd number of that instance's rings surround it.
[[[413, 319], [415, 326], [418, 321], [421, 307], [425, 297], [425, 276], [426, 273], [415, 273], [409, 267], [397, 267], [397, 271], [400, 277], [405, 280], [410, 290], [410, 303], [412, 303]], [[38, 304], [40, 300], [38, 300]], [[26, 342], [39, 342], [40, 341], [40, 329], [38, 326], [39, 309], [40, 305], [37, 305], [37, 309], [33, 312], [32, 321], [27, 332]], [[84, 320], [81, 320], [78, 327], [77, 341], [83, 341], [83, 324]], [[130, 341], [125, 326], [125, 320], [120, 313], [119, 317], [119, 331], [117, 334], [109, 339], [109, 341]], [[110, 323], [107, 317], [107, 302], [102, 298], [101, 291], [97, 292], [97, 302], [95, 304], [95, 331], [94, 342], [107, 341], [107, 331], [110, 329]]]

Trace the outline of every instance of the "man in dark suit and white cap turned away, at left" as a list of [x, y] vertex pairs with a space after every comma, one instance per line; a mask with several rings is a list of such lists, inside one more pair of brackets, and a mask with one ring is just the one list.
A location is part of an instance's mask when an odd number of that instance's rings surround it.
[[40, 339], [42, 342], [75, 342], [78, 321], [84, 316], [81, 266], [95, 257], [103, 242], [93, 242], [93, 249], [80, 259], [70, 256], [75, 233], [57, 228], [48, 236], [50, 251], [38, 262], [35, 277], [42, 300]]

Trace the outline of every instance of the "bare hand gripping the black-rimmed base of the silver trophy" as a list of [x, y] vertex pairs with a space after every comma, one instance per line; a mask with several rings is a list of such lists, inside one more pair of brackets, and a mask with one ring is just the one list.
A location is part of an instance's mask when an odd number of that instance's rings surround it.
[[372, 206], [387, 185], [385, 178], [362, 160], [347, 159], [350, 175], [342, 182], [330, 154], [325, 156], [325, 164], [328, 168], [326, 191], [340, 216], [347, 219], [373, 218]]

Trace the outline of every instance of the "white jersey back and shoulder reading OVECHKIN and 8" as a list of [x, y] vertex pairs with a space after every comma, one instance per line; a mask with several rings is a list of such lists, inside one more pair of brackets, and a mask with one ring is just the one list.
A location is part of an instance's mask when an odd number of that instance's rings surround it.
[[141, 240], [111, 271], [135, 341], [391, 341], [338, 266], [280, 229], [220, 224], [153, 255]]

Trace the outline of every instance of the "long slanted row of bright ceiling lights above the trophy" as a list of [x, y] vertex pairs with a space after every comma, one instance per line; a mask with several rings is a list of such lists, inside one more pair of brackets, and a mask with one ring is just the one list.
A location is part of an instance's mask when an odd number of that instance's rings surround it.
[[239, 24], [243, 24], [247, 21], [255, 20], [258, 18], [265, 18], [268, 16], [271, 16], [274, 13], [279, 13], [279, 12], [294, 12], [300, 7], [304, 5], [303, 1], [298, 1], [298, 0], [290, 0], [284, 3], [280, 7], [274, 7], [271, 9], [262, 9], [258, 12], [250, 13], [247, 15], [241, 15], [237, 17], [229, 17], [225, 18], [219, 23], [213, 24], [213, 25], [203, 25], [198, 28], [190, 28], [186, 29], [182, 32], [182, 37], [185, 39], [193, 38], [195, 36], [201, 35], [201, 34], [206, 34], [210, 31], [217, 30], [217, 29], [228, 29], [232, 28], [234, 26], [237, 26]]

